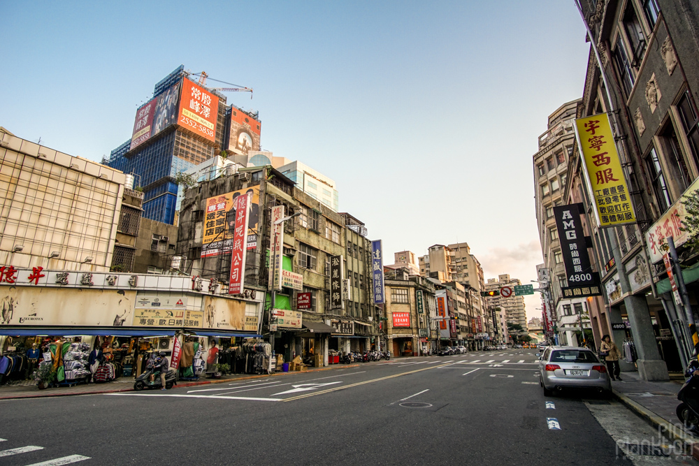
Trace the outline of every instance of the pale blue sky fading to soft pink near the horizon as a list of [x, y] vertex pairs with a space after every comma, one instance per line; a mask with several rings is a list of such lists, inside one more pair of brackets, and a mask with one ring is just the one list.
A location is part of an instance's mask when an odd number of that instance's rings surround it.
[[262, 149], [335, 180], [384, 256], [468, 242], [486, 279], [536, 278], [532, 158], [589, 54], [572, 0], [0, 0], [0, 17], [0, 126], [20, 138], [101, 161], [183, 64], [252, 87], [228, 103], [259, 111]]

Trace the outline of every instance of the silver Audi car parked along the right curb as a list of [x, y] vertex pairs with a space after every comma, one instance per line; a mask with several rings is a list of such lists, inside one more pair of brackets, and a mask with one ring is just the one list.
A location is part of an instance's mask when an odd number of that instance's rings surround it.
[[607, 366], [586, 348], [547, 347], [539, 356], [539, 383], [544, 395], [563, 388], [593, 388], [606, 395], [612, 393]]

